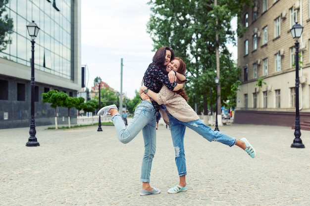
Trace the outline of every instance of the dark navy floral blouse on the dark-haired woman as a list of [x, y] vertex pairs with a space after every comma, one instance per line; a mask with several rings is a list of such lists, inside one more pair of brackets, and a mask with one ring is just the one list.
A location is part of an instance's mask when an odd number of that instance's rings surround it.
[[[170, 90], [173, 90], [177, 85], [176, 82], [170, 83], [168, 76], [155, 64], [150, 64], [149, 68], [144, 74], [144, 85], [158, 93], [162, 85], [166, 85]], [[159, 105], [151, 98], [155, 110], [159, 111]]]

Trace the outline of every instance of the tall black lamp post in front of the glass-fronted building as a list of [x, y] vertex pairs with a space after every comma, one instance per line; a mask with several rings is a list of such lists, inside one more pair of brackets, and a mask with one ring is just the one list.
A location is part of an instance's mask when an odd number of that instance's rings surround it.
[[27, 30], [29, 36], [31, 37], [31, 116], [30, 116], [30, 129], [29, 134], [30, 137], [28, 138], [28, 142], [26, 146], [40, 146], [39, 142], [37, 141], [36, 137], [36, 121], [35, 121], [35, 38], [38, 35], [40, 28], [37, 26], [35, 21], [30, 22], [27, 25]]

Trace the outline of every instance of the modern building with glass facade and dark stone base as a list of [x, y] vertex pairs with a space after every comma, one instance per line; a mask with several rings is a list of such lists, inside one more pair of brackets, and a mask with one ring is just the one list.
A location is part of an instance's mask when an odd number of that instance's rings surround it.
[[[81, 88], [81, 2], [3, 2], [0, 2], [0, 8], [5, 10], [0, 14], [0, 20], [3, 20], [0, 21], [0, 31], [4, 30], [6, 33], [3, 36], [2, 32], [0, 38], [6, 43], [0, 44], [0, 128], [29, 126], [32, 54], [31, 37], [26, 26], [32, 21], [40, 28], [34, 48], [36, 124], [54, 124], [53, 108], [47, 103], [43, 104], [41, 96], [43, 92], [56, 89], [76, 97]], [[57, 110], [58, 117], [65, 113], [62, 109], [64, 108]], [[51, 113], [52, 116], [49, 117]], [[63, 114], [63, 117], [66, 116]], [[76, 121], [76, 115], [72, 116]], [[12, 123], [15, 125], [12, 126]], [[74, 119], [72, 123], [74, 124]]]

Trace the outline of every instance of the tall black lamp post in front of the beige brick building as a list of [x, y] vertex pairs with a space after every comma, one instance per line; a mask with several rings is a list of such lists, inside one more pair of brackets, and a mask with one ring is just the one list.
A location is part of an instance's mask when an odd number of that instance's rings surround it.
[[296, 82], [295, 82], [295, 101], [296, 101], [296, 118], [295, 118], [295, 139], [293, 141], [293, 144], [291, 144], [291, 147], [295, 148], [305, 148], [305, 145], [303, 144], [302, 139], [300, 136], [302, 133], [300, 132], [300, 120], [299, 120], [299, 42], [298, 38], [302, 36], [304, 27], [296, 22], [296, 24], [292, 27], [291, 33], [293, 36], [293, 39], [296, 39], [295, 41], [295, 66], [296, 66]]

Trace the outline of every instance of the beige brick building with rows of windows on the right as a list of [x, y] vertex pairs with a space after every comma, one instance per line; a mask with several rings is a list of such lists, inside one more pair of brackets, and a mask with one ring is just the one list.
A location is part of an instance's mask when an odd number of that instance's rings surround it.
[[[235, 123], [295, 124], [295, 41], [292, 27], [304, 27], [299, 41], [299, 110], [301, 123], [310, 121], [310, 0], [254, 0], [245, 7], [238, 38], [242, 75]], [[258, 86], [261, 82], [261, 86]], [[302, 126], [303, 127], [303, 126]]]

